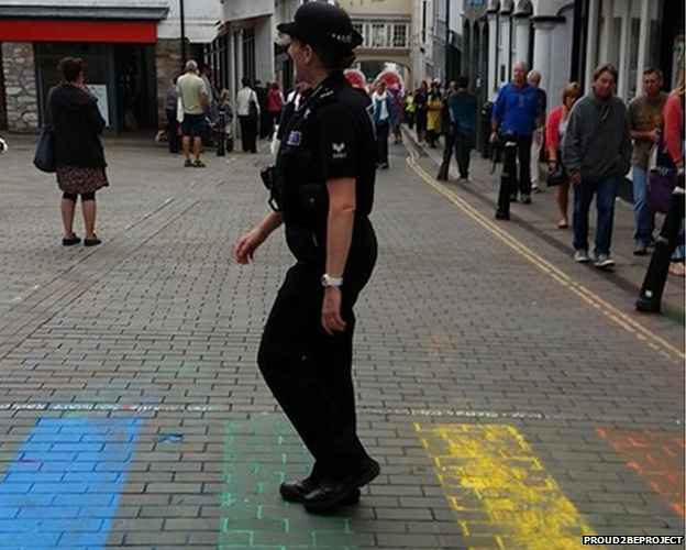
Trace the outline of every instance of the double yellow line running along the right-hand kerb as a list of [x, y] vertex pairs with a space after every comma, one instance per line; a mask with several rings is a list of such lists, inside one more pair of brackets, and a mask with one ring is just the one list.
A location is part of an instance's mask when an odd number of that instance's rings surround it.
[[[530, 263], [535, 265], [539, 270], [547, 274], [554, 280], [560, 283], [565, 288], [568, 288], [571, 292], [576, 294], [584, 301], [589, 304], [590, 306], [599, 309], [602, 315], [605, 315], [612, 322], [619, 324], [628, 332], [631, 332], [639, 340], [646, 341], [646, 343], [654, 350], [660, 351], [663, 355], [671, 358], [670, 353], [676, 356], [679, 361], [686, 359], [686, 354], [672, 345], [664, 338], [660, 337], [655, 332], [645, 328], [643, 324], [632, 319], [624, 312], [620, 311], [618, 308], [604, 300], [600, 296], [595, 294], [593, 290], [586, 288], [580, 283], [576, 282], [574, 278], [569, 277], [562, 270], [544, 260], [542, 256], [533, 252], [531, 249], [523, 245], [517, 239], [505, 232], [497, 224], [486, 218], [483, 213], [472, 207], [464, 199], [457, 197], [454, 193], [445, 189], [441, 184], [439, 184], [434, 178], [432, 178], [427, 172], [417, 163], [417, 153], [410, 148], [410, 156], [407, 158], [407, 163], [410, 167], [417, 173], [419, 177], [421, 177], [427, 184], [438, 190], [441, 195], [447, 198], [451, 202], [453, 202], [456, 207], [458, 207], [462, 211], [464, 211], [469, 218], [476, 221], [479, 226], [486, 229], [489, 233], [497, 237], [500, 241], [507, 244], [510, 249], [516, 251], [518, 254], [527, 258]], [[665, 351], [666, 350], [666, 351]], [[668, 352], [668, 353], [667, 353]], [[672, 359], [672, 358], [671, 358]]]

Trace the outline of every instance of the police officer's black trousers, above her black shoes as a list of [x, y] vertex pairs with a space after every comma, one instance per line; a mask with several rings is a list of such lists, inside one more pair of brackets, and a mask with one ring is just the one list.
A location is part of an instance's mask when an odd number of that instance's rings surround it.
[[368, 220], [356, 220], [344, 273], [344, 332], [321, 326], [323, 258], [288, 271], [262, 337], [257, 363], [269, 389], [314, 458], [312, 475], [342, 479], [368, 454], [357, 438], [352, 378], [353, 306], [374, 270], [377, 244]]

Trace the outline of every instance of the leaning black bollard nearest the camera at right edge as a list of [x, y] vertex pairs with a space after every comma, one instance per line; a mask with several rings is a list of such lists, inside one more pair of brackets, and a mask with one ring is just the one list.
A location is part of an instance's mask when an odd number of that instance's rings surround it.
[[641, 286], [641, 293], [635, 301], [638, 311], [657, 314], [662, 302], [670, 261], [677, 245], [677, 238], [684, 219], [684, 170], [677, 175], [676, 187], [672, 194], [672, 206], [662, 224], [660, 237], [655, 241], [655, 251], [648, 266], [648, 273]]

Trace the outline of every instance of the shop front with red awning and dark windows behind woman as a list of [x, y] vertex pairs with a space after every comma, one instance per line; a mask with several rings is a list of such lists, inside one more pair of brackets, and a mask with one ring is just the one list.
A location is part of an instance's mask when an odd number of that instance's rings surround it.
[[[3, 106], [0, 121], [34, 132], [63, 57], [84, 59], [109, 133], [157, 128], [156, 21], [0, 20]], [[4, 109], [2, 109], [2, 107]]]

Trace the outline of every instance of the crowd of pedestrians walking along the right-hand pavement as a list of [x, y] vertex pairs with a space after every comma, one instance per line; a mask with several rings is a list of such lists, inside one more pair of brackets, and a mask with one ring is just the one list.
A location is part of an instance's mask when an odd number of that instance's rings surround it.
[[[496, 219], [510, 219], [510, 205], [532, 205], [543, 184], [555, 187], [557, 228], [573, 229], [574, 260], [612, 270], [612, 230], [619, 186], [630, 176], [635, 219], [633, 253], [648, 255], [655, 245], [655, 213], [666, 213], [676, 174], [684, 167], [684, 70], [671, 92], [663, 90], [662, 72], [643, 72], [643, 90], [628, 105], [615, 95], [617, 69], [597, 67], [588, 94], [569, 82], [561, 102], [549, 112], [542, 76], [523, 62], [498, 91], [490, 111], [489, 143], [502, 157]], [[461, 183], [469, 182], [475, 146], [477, 98], [461, 76], [441, 91], [441, 84], [422, 81], [408, 91], [402, 119], [420, 145], [443, 140], [438, 179], [446, 180], [454, 154]], [[379, 133], [380, 136], [384, 134]], [[379, 146], [379, 151], [383, 146]], [[547, 170], [542, 165], [547, 164]], [[569, 189], [573, 189], [569, 216]], [[589, 254], [589, 213], [596, 205], [596, 234]], [[684, 230], [677, 238], [670, 272], [684, 276]]]

